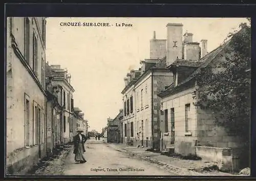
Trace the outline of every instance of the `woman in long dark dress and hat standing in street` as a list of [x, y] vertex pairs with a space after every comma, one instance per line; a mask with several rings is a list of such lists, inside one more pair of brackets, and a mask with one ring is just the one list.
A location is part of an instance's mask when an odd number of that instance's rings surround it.
[[74, 154], [75, 154], [75, 162], [78, 163], [86, 163], [86, 159], [83, 157], [83, 153], [86, 152], [84, 149], [84, 143], [86, 143], [86, 135], [82, 134], [82, 128], [76, 128], [78, 132], [77, 135], [74, 136]]

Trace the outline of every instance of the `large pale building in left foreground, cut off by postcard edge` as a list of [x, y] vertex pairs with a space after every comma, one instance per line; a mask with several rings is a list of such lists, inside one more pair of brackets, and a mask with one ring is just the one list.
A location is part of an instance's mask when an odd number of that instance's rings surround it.
[[8, 17], [6, 27], [7, 174], [46, 156], [45, 17]]

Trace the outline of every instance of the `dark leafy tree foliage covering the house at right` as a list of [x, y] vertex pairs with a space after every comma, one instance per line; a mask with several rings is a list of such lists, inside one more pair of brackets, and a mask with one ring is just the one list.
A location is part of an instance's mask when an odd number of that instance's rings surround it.
[[212, 110], [216, 123], [228, 133], [238, 135], [249, 142], [250, 129], [250, 63], [251, 28], [240, 25], [238, 33], [231, 33], [230, 42], [224, 48], [226, 61], [220, 63], [220, 71], [201, 69], [196, 76], [198, 101], [195, 105]]

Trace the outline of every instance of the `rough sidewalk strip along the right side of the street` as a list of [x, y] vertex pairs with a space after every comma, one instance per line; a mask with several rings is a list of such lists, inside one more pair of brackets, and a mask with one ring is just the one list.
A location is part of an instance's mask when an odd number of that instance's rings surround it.
[[145, 151], [146, 148], [137, 148], [134, 146], [115, 143], [106, 144], [117, 151], [126, 152], [131, 156], [138, 157], [139, 159], [156, 163], [164, 169], [176, 171], [180, 175], [234, 176], [231, 173], [219, 172], [217, 170], [206, 171], [205, 167], [209, 168], [216, 165], [214, 162], [204, 160], [182, 160], [177, 157], [170, 157], [161, 155], [160, 153]]

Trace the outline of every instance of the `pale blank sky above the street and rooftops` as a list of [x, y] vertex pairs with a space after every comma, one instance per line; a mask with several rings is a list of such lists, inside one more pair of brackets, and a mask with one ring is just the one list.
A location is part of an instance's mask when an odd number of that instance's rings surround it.
[[[109, 22], [110, 27], [60, 26], [61, 22]], [[239, 29], [246, 18], [81, 18], [49, 17], [46, 26], [46, 61], [59, 64], [71, 74], [74, 107], [84, 112], [89, 130], [101, 132], [107, 118], [122, 108], [123, 78], [150, 58], [150, 39], [166, 39], [166, 24], [182, 23], [183, 34], [193, 41], [207, 39], [207, 51], [216, 49], [229, 32]], [[116, 27], [116, 24], [131, 24]]]

